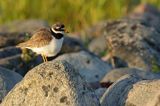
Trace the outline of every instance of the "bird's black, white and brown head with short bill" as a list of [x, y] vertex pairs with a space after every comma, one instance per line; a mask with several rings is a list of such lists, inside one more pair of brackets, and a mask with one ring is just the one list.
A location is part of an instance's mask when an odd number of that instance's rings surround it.
[[60, 22], [52, 25], [51, 30], [52, 30], [54, 33], [61, 33], [61, 34], [67, 33], [64, 24], [63, 24], [63, 23], [60, 23]]

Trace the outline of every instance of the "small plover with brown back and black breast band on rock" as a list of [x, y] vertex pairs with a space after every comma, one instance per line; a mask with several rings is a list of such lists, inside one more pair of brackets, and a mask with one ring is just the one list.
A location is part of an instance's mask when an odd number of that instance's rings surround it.
[[63, 23], [57, 22], [50, 28], [41, 28], [35, 31], [32, 37], [16, 47], [27, 48], [40, 54], [44, 62], [47, 62], [47, 57], [56, 56], [64, 41], [64, 36], [68, 33]]

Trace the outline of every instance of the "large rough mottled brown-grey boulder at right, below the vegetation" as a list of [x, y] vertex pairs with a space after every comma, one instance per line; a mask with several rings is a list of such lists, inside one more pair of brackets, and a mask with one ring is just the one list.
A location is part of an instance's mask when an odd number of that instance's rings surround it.
[[108, 22], [105, 35], [112, 55], [129, 67], [151, 71], [153, 62], [160, 64], [160, 33], [140, 20], [126, 18]]

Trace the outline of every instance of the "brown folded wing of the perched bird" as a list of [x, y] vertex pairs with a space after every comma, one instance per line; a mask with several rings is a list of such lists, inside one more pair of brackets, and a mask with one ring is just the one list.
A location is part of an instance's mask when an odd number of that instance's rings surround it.
[[50, 43], [52, 35], [46, 28], [39, 29], [33, 36], [26, 42], [21, 43], [18, 47], [42, 47]]

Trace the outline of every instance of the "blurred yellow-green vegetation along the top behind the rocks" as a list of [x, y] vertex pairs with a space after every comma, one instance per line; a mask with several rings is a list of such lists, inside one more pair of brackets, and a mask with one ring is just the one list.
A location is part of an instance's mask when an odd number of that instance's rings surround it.
[[160, 0], [0, 0], [0, 24], [13, 20], [61, 21], [74, 31], [126, 15], [139, 3], [160, 7]]

